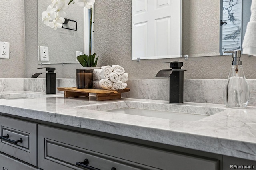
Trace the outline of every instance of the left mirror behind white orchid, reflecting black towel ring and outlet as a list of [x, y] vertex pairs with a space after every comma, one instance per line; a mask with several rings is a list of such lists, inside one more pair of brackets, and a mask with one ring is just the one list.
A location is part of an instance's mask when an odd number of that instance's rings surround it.
[[[66, 0], [66, 4], [68, 2], [70, 0]], [[78, 63], [76, 56], [88, 55], [89, 43], [93, 44], [94, 36], [93, 32], [90, 36], [89, 22], [90, 17], [92, 21], [94, 19], [94, 10], [70, 3], [65, 10], [67, 16], [62, 24], [63, 28], [54, 30], [42, 22], [42, 12], [51, 3], [51, 0], [38, 0], [38, 64]], [[93, 30], [93, 25], [91, 29]]]

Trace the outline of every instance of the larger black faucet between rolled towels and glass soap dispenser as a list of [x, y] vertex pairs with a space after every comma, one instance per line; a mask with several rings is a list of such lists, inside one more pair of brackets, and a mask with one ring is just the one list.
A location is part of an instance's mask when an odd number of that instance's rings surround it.
[[166, 62], [170, 63], [170, 68], [160, 70], [156, 74], [156, 77], [170, 77], [170, 103], [183, 103], [183, 81], [184, 81], [184, 71], [181, 69], [183, 66], [182, 62]]

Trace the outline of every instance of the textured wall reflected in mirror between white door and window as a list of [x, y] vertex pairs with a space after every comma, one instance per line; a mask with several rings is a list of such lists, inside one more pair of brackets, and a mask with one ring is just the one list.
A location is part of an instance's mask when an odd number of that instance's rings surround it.
[[220, 1], [183, 0], [182, 54], [219, 53], [219, 42]]

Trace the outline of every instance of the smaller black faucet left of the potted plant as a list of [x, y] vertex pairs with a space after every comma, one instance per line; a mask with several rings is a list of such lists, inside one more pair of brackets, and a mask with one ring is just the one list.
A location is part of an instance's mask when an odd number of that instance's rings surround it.
[[[41, 67], [38, 69], [46, 69], [46, 94], [56, 94], [56, 73], [54, 73], [55, 68], [53, 67]], [[31, 78], [37, 78], [38, 75], [43, 73], [36, 73], [31, 76]]]

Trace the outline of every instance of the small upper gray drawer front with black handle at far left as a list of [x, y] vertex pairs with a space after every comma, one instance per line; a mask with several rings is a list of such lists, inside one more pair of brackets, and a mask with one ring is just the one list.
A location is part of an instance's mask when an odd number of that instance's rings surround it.
[[[0, 151], [10, 156], [38, 166], [37, 123], [0, 116]], [[6, 137], [8, 136], [8, 137]], [[22, 142], [18, 142], [22, 139]], [[17, 141], [13, 143], [10, 140]]]

